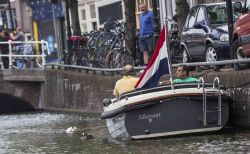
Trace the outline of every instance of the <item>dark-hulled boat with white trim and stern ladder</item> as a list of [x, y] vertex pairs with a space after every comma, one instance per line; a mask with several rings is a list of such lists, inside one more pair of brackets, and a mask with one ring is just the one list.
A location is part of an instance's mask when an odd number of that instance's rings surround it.
[[112, 138], [147, 139], [219, 131], [229, 120], [225, 89], [212, 83], [174, 83], [103, 100], [102, 119]]

